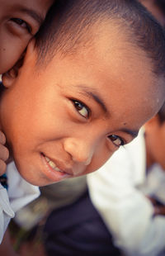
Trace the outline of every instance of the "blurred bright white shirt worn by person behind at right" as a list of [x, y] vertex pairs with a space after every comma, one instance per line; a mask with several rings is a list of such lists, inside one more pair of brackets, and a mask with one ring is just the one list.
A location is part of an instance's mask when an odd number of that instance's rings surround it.
[[[115, 244], [127, 255], [165, 255], [165, 217], [153, 218], [153, 205], [140, 191], [146, 181], [145, 166], [144, 136], [139, 134], [97, 172], [87, 175], [89, 192]], [[156, 168], [164, 177], [158, 183], [159, 194], [165, 194], [165, 173]]]

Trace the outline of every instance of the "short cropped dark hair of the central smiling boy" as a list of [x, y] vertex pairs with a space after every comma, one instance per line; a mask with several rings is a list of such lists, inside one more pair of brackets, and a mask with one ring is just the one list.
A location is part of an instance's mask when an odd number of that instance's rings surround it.
[[[36, 36], [39, 62], [58, 51], [72, 52], [97, 21], [110, 20], [125, 28], [130, 44], [139, 46], [151, 59], [153, 72], [165, 73], [163, 28], [136, 0], [57, 0]], [[114, 23], [115, 22], [115, 23]]]

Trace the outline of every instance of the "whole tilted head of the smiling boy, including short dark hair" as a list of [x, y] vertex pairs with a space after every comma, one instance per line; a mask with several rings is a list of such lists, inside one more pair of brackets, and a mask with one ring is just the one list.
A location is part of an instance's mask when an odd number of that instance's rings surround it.
[[100, 168], [165, 93], [163, 31], [139, 3], [70, 0], [54, 10], [18, 76], [3, 77], [0, 102], [16, 166], [40, 186]]

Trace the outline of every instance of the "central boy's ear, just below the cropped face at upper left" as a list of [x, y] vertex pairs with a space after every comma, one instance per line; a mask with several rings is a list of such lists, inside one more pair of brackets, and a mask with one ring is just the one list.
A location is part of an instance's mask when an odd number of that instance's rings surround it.
[[10, 88], [12, 83], [14, 83], [15, 79], [19, 74], [19, 70], [24, 63], [24, 59], [26, 59], [26, 55], [31, 55], [31, 53], [35, 49], [35, 40], [31, 40], [27, 49], [23, 52], [20, 59], [16, 62], [16, 64], [12, 67], [12, 69], [8, 70], [6, 73], [2, 74], [2, 84], [5, 88]]

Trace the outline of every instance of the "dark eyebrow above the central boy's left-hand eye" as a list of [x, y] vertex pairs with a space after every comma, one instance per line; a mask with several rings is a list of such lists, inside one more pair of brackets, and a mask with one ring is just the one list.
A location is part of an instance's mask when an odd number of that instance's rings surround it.
[[[106, 104], [104, 103], [104, 101], [101, 99], [101, 97], [97, 94], [97, 92], [92, 92], [92, 91], [88, 91], [89, 88], [82, 86], [82, 85], [78, 85], [79, 88], [81, 88], [83, 90], [83, 94], [85, 94], [87, 97], [92, 97], [94, 99], [95, 102], [97, 102], [100, 107], [102, 108], [102, 110], [105, 113], [108, 113], [107, 108], [106, 108]], [[82, 92], [81, 92], [82, 93]]]

